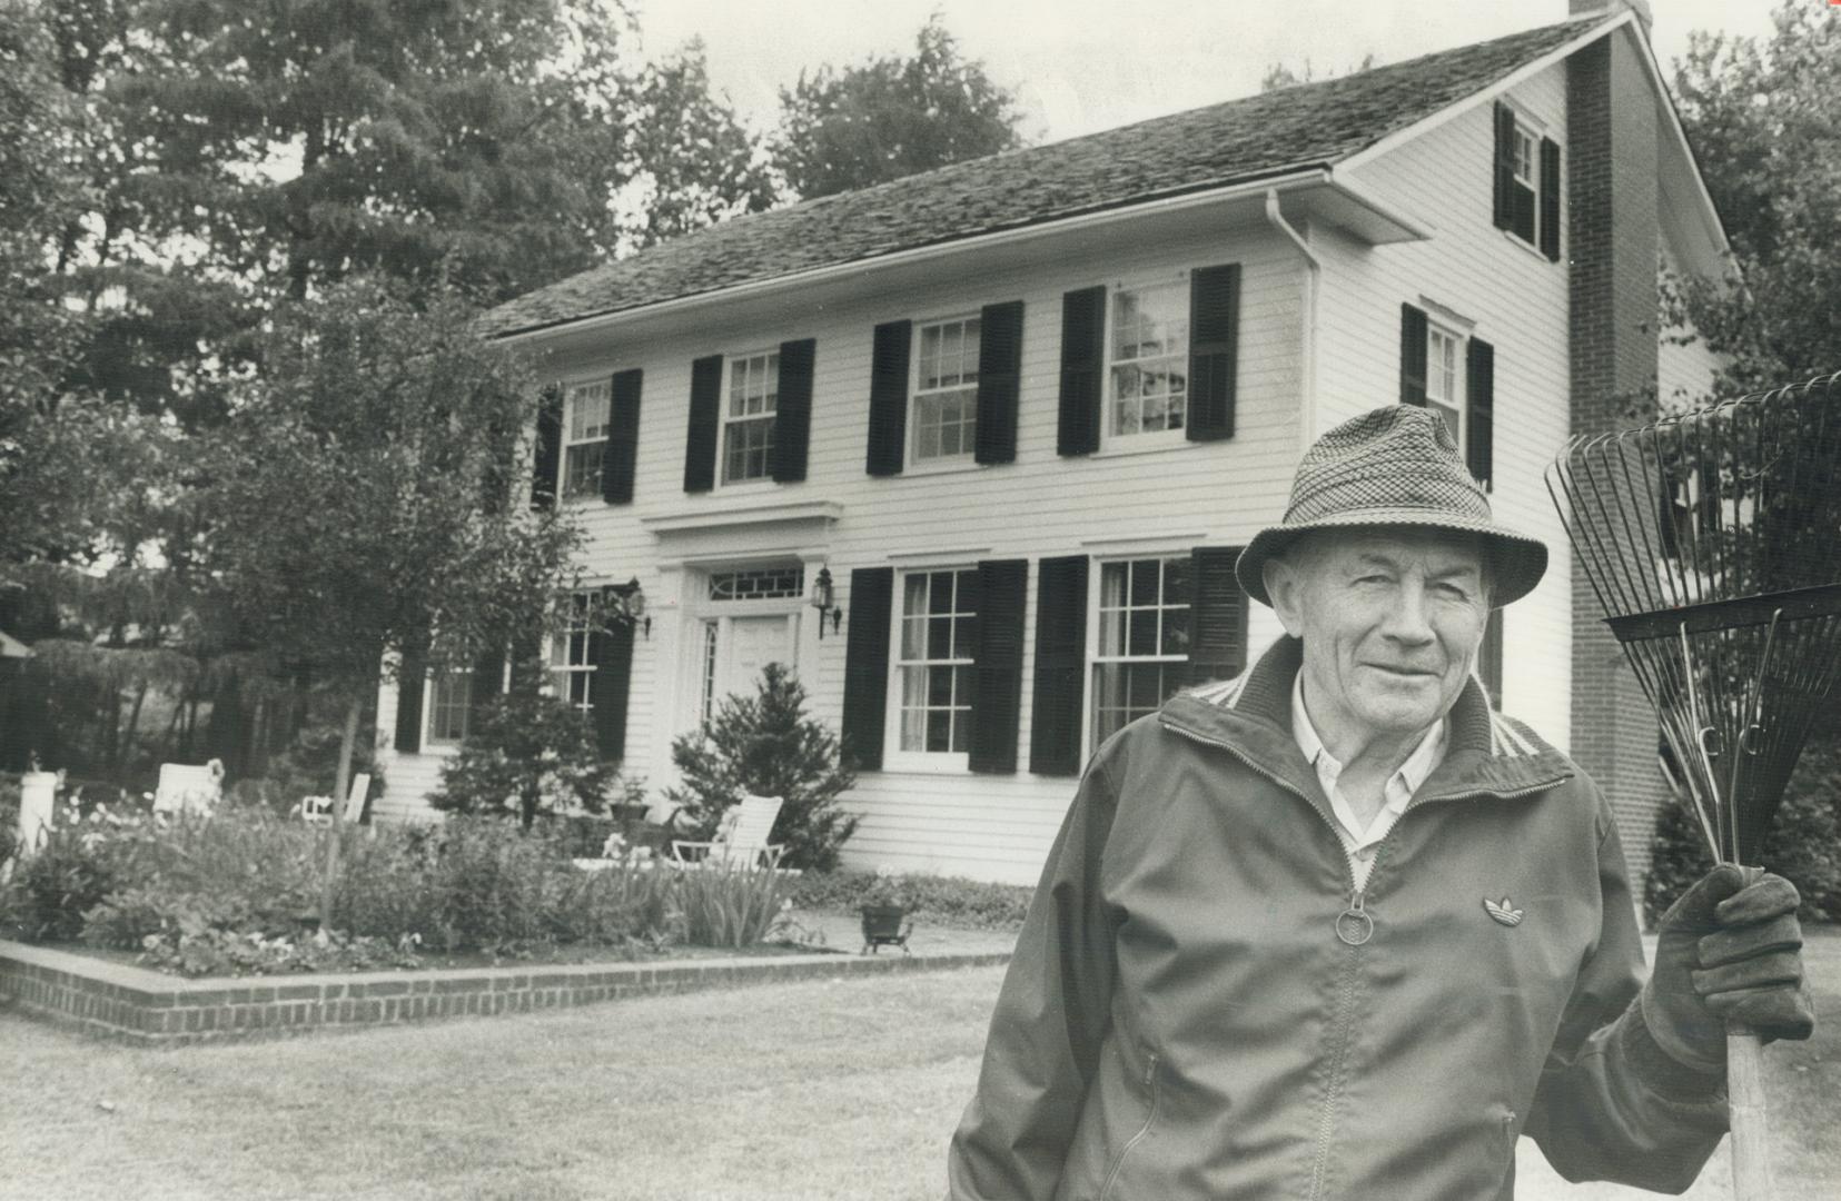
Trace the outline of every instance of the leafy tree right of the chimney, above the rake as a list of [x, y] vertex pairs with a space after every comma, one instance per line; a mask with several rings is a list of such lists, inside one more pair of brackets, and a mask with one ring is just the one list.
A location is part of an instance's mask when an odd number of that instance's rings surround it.
[[[1841, 311], [1841, 96], [1826, 86], [1841, 24], [1784, 0], [1775, 31], [1694, 33], [1675, 96], [1732, 245], [1734, 280], [1672, 280], [1690, 320], [1729, 357], [1718, 392], [1738, 395], [1835, 370]], [[1740, 276], [1743, 283], [1740, 285]]]

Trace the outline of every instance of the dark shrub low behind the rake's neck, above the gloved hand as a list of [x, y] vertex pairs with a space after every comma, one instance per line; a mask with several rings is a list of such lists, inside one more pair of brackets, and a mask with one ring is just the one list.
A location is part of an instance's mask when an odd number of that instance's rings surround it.
[[[1644, 914], [1653, 925], [1694, 881], [1712, 870], [1712, 855], [1683, 806], [1668, 806], [1650, 842]], [[1841, 739], [1812, 741], [1784, 791], [1758, 861], [1802, 894], [1802, 916], [1841, 920]]]

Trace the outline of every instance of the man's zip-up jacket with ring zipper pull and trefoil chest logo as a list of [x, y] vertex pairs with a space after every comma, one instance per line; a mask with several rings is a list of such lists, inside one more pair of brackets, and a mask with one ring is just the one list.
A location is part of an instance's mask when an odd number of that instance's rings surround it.
[[1598, 787], [1476, 681], [1353, 888], [1291, 734], [1302, 647], [1178, 695], [1081, 780], [948, 1157], [959, 1201], [1681, 1192], [1723, 1080], [1657, 1048]]

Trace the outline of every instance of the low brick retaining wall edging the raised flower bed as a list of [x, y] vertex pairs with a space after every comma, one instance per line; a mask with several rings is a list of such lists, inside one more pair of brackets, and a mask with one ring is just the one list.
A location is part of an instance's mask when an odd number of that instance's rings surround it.
[[974, 967], [1009, 955], [775, 955], [184, 980], [0, 940], [0, 995], [26, 1013], [142, 1047], [282, 1037], [324, 1026], [528, 1013], [770, 980]]

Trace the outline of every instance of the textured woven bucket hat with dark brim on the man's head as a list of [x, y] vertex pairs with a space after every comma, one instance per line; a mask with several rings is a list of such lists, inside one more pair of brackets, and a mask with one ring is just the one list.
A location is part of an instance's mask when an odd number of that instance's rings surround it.
[[1418, 528], [1482, 535], [1491, 603], [1517, 601], [1546, 574], [1541, 539], [1497, 524], [1445, 421], [1412, 405], [1384, 405], [1318, 438], [1298, 462], [1285, 520], [1261, 530], [1233, 565], [1261, 605], [1267, 559], [1309, 530]]

